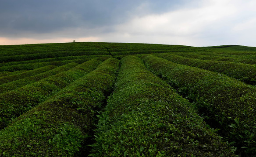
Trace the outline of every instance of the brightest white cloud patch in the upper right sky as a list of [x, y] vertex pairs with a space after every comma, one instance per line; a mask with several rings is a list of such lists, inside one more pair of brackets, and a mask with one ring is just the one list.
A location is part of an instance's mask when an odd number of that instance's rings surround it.
[[180, 9], [164, 14], [150, 14], [135, 17], [125, 24], [117, 26], [119, 32], [128, 34], [168, 34], [186, 36], [197, 34], [206, 26], [216, 24], [234, 13], [234, 8], [227, 10], [224, 3], [206, 3], [198, 8]]

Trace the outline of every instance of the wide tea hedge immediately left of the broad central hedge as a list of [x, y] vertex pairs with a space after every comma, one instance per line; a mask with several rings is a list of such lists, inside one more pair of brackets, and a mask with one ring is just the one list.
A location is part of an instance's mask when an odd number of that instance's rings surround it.
[[89, 151], [85, 146], [91, 143], [95, 113], [112, 91], [118, 62], [107, 59], [0, 131], [0, 154], [86, 156]]

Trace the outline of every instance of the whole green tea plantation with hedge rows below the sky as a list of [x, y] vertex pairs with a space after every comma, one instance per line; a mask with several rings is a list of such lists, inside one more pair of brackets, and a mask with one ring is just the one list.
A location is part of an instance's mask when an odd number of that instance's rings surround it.
[[255, 47], [0, 46], [0, 157], [255, 155]]

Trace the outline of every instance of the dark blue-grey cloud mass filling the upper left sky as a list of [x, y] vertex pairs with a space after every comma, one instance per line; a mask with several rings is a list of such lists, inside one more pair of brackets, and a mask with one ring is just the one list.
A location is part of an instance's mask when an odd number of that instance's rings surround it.
[[[182, 0], [6, 0], [0, 5], [0, 34], [50, 33], [67, 28], [111, 27], [132, 16], [160, 14]], [[178, 3], [177, 3], [178, 2]], [[146, 7], [137, 9], [142, 3]], [[103, 29], [111, 30], [111, 28]]]

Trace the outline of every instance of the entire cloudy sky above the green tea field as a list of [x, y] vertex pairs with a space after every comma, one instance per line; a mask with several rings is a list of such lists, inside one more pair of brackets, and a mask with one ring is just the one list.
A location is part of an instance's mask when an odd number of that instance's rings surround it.
[[0, 0], [0, 45], [256, 46], [256, 0]]

